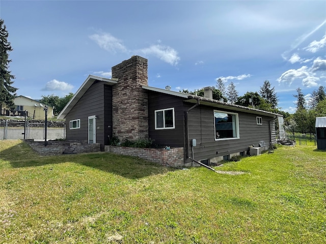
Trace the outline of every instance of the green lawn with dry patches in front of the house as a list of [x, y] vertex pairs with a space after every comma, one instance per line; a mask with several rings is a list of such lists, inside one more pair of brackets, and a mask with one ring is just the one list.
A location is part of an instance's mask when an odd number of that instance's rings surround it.
[[279, 146], [216, 168], [0, 141], [0, 243], [325, 243], [326, 151]]

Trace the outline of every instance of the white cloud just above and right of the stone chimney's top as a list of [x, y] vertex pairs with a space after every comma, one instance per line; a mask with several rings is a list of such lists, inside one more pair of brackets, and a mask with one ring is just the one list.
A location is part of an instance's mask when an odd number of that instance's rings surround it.
[[150, 47], [140, 49], [139, 51], [144, 53], [145, 55], [154, 55], [159, 59], [163, 60], [164, 62], [173, 66], [177, 65], [180, 60], [178, 52], [169, 46], [159, 44], [151, 45]]

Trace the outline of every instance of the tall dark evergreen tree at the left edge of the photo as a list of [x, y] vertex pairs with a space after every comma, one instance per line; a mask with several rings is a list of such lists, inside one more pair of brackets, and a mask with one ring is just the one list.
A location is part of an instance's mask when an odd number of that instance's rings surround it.
[[2, 104], [6, 104], [10, 109], [15, 107], [14, 98], [17, 90], [12, 86], [15, 76], [8, 70], [11, 62], [9, 52], [13, 50], [7, 40], [8, 35], [4, 20], [0, 19], [0, 110], [2, 110]]

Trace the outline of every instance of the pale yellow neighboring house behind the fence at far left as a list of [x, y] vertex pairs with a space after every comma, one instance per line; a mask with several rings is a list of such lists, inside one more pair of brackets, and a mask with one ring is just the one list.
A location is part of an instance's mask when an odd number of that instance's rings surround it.
[[[24, 96], [18, 96], [14, 99], [15, 110], [9, 111], [6, 106], [3, 107], [2, 113], [8, 116], [26, 116], [34, 119], [45, 119], [45, 105], [37, 100]], [[47, 106], [47, 118], [53, 117], [53, 107]]]

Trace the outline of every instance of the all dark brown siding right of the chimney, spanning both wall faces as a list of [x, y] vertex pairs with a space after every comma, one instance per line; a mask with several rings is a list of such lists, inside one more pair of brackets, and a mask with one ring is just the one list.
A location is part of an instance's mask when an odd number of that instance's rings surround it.
[[[166, 94], [148, 92], [149, 104], [149, 137], [158, 146], [184, 147], [185, 159], [192, 157], [191, 140], [196, 139], [194, 158], [196, 160], [210, 159], [240, 151], [249, 150], [252, 145], [269, 145], [268, 121], [272, 132], [272, 143], [275, 143], [274, 119], [271, 116], [261, 116], [251, 113], [235, 112], [199, 105], [188, 112], [188, 145], [186, 141], [187, 129], [185, 114], [194, 104], [183, 102], [184, 99]], [[171, 130], [155, 130], [155, 110], [174, 108], [176, 128]], [[214, 110], [233, 112], [239, 118], [239, 139], [215, 141]], [[257, 125], [256, 117], [262, 117], [262, 125]]]

